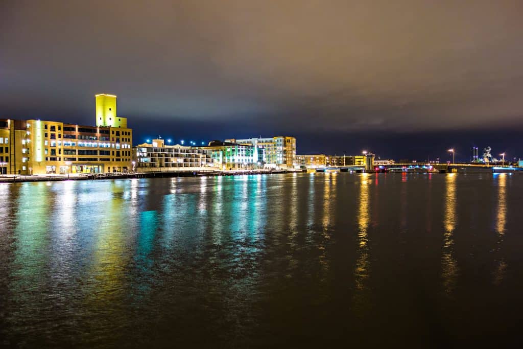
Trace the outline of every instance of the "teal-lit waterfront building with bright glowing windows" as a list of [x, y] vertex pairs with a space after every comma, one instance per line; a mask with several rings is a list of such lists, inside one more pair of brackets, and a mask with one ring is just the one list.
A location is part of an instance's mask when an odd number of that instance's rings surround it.
[[206, 147], [212, 151], [214, 165], [220, 170], [253, 169], [264, 166], [265, 148], [261, 145], [211, 141]]

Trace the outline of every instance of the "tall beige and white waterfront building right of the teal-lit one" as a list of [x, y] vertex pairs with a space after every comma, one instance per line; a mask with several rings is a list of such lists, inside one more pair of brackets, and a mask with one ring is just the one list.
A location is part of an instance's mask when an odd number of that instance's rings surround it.
[[298, 165], [296, 159], [296, 139], [294, 137], [276, 136], [269, 138], [229, 139], [225, 140], [225, 142], [263, 147], [265, 167], [280, 169], [293, 168]]

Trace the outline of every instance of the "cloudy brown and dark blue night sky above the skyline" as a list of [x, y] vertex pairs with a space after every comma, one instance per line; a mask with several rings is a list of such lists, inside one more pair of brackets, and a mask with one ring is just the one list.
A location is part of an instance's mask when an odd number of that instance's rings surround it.
[[299, 154], [523, 157], [521, 1], [0, 2], [0, 117], [134, 143], [288, 135]]

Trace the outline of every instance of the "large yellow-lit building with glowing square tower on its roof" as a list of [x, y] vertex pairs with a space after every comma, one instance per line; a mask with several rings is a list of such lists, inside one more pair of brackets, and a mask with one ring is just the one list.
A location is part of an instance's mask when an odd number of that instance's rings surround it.
[[0, 119], [3, 174], [127, 172], [132, 129], [116, 114], [116, 96], [96, 95], [96, 126]]

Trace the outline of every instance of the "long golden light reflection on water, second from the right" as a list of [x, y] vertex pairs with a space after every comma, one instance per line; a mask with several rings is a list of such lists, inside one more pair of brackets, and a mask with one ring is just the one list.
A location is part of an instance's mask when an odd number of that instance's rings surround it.
[[442, 276], [444, 279], [444, 288], [447, 294], [451, 294], [456, 285], [458, 266], [453, 256], [454, 238], [453, 233], [456, 229], [456, 179], [457, 174], [449, 173], [446, 175], [445, 183], [445, 232], [442, 256]]

